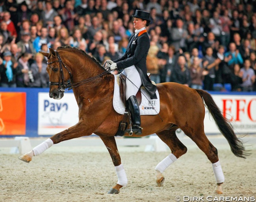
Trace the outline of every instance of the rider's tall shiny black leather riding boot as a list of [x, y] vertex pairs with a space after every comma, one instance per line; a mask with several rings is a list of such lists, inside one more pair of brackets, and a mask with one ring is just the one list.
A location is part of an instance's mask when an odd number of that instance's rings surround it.
[[136, 135], [140, 135], [141, 132], [141, 116], [139, 113], [139, 105], [137, 102], [137, 99], [134, 95], [132, 95], [131, 97], [129, 97], [129, 99], [127, 100], [128, 103], [128, 107], [129, 110], [131, 112], [132, 115], [132, 123], [134, 124], [132, 126], [132, 130]]

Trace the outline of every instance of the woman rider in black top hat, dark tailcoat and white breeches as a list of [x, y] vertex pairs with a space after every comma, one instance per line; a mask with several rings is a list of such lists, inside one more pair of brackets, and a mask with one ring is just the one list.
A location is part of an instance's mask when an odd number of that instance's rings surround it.
[[151, 99], [156, 99], [156, 86], [147, 76], [146, 57], [150, 47], [150, 40], [146, 26], [150, 25], [150, 13], [136, 10], [134, 17], [135, 33], [130, 37], [126, 52], [115, 60], [108, 61], [106, 68], [122, 70], [126, 76], [126, 101], [132, 115], [132, 130], [136, 135], [142, 133], [139, 105], [135, 95], [141, 85], [145, 87]]

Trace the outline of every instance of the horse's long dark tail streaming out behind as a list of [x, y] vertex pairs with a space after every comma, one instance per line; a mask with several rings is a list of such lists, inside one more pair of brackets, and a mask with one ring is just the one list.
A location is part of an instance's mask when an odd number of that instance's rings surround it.
[[204, 90], [196, 89], [196, 91], [204, 99], [204, 103], [206, 104], [211, 116], [213, 116], [217, 127], [226, 140], [228, 140], [233, 154], [241, 158], [246, 158], [246, 156], [250, 155], [248, 151], [245, 150], [243, 142], [237, 138], [230, 121], [222, 115], [221, 110], [216, 105], [211, 95]]

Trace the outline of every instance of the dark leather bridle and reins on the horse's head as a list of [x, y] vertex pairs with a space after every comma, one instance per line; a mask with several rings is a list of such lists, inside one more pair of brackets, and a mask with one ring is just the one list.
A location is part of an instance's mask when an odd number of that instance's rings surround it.
[[[66, 82], [64, 81], [64, 74], [63, 74], [63, 68], [62, 68], [62, 65], [64, 66], [64, 68], [69, 72], [69, 77], [70, 79], [72, 78], [72, 74], [71, 72], [69, 71], [69, 69], [65, 66], [65, 64], [62, 62], [60, 56], [59, 56], [59, 53], [57, 50], [54, 50], [56, 55], [57, 55], [57, 58], [58, 58], [58, 61], [52, 61], [52, 62], [47, 62], [47, 64], [52, 64], [54, 62], [59, 62], [59, 82], [49, 82], [49, 86], [58, 86], [58, 91], [63, 91], [63, 92], [67, 92], [68, 90], [71, 90], [72, 88], [74, 87], [78, 87], [78, 86], [81, 86], [82, 84], [85, 84], [87, 82], [90, 82], [90, 81], [93, 81], [99, 77], [101, 77], [102, 75], [105, 75], [106, 73], [109, 73], [111, 72], [111, 70], [107, 70], [105, 72], [102, 72], [94, 77], [91, 77], [89, 79], [84, 79], [82, 81], [79, 81], [78, 83], [74, 83], [74, 84], [71, 84], [70, 82]], [[67, 89], [68, 88], [68, 89]], [[67, 90], [66, 90], [67, 89]]]

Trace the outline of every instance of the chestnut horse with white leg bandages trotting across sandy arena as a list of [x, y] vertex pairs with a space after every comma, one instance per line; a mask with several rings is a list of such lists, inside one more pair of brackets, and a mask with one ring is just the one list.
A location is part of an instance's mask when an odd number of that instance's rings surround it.
[[[53, 144], [94, 133], [106, 145], [118, 177], [117, 184], [108, 193], [119, 193], [120, 188], [125, 186], [128, 180], [115, 142], [115, 134], [123, 116], [113, 108], [114, 75], [106, 71], [93, 57], [77, 48], [50, 48], [50, 53], [42, 54], [48, 58], [49, 96], [61, 99], [65, 89], [72, 88], [79, 107], [79, 121], [20, 156], [20, 160], [30, 162], [33, 156], [41, 154]], [[236, 137], [230, 122], [223, 117], [211, 95], [204, 90], [195, 90], [178, 83], [160, 83], [157, 84], [157, 88], [160, 96], [159, 114], [141, 116], [141, 136], [156, 133], [171, 149], [171, 154], [156, 166], [157, 185], [163, 184], [163, 171], [187, 152], [186, 146], [175, 134], [180, 128], [212, 163], [217, 181], [215, 193], [223, 193], [221, 184], [224, 182], [224, 175], [217, 149], [204, 133], [204, 102], [219, 130], [228, 140], [231, 151], [234, 155], [245, 158], [248, 153], [242, 141]]]

